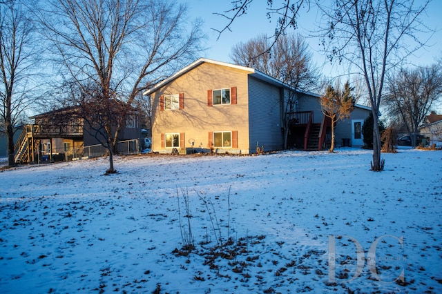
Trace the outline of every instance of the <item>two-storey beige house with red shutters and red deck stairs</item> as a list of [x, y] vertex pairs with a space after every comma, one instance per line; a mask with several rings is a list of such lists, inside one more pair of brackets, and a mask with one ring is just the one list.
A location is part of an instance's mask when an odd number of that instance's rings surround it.
[[[144, 92], [152, 102], [152, 150], [237, 154], [256, 153], [257, 147], [282, 150], [285, 105], [293, 91], [253, 68], [198, 59]], [[298, 109], [288, 116], [288, 142], [305, 150], [321, 149], [327, 141], [327, 120], [319, 96], [296, 95]], [[354, 145], [362, 146], [361, 126], [368, 115], [369, 108], [357, 106], [352, 118], [336, 128], [337, 140], [351, 139], [356, 126]]]

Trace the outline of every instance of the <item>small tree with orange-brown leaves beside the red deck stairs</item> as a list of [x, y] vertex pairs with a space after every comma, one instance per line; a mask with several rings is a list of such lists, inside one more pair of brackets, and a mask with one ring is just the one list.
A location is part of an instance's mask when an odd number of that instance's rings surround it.
[[320, 98], [320, 108], [323, 114], [332, 121], [332, 144], [329, 152], [334, 151], [334, 126], [342, 119], [347, 119], [354, 108], [356, 99], [352, 95], [354, 88], [350, 87], [347, 81], [344, 84], [343, 90], [340, 90], [337, 84], [336, 89], [332, 86], [327, 86], [325, 95]]

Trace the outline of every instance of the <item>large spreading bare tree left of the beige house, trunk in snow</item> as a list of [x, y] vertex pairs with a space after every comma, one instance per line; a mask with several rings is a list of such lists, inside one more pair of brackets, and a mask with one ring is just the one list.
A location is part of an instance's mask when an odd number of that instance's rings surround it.
[[[132, 104], [138, 93], [171, 75], [200, 50], [200, 23], [187, 30], [186, 6], [174, 1], [53, 0], [44, 8], [39, 19], [61, 72], [75, 81], [81, 95], [91, 94], [92, 88], [97, 100], [124, 99]], [[90, 83], [95, 86], [84, 88]], [[104, 128], [115, 130], [106, 134], [112, 146], [124, 119], [120, 116], [112, 128]]]

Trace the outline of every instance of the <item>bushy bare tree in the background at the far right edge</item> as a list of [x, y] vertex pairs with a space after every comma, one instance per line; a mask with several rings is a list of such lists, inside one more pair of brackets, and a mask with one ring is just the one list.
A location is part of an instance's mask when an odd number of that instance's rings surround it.
[[390, 115], [403, 121], [416, 145], [419, 125], [442, 95], [442, 71], [439, 65], [401, 69], [387, 80], [385, 105]]

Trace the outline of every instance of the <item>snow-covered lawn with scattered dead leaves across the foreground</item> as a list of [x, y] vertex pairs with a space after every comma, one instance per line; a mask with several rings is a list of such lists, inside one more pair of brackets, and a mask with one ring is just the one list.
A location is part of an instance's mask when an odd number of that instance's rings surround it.
[[354, 148], [4, 170], [0, 292], [442, 293], [442, 152], [382, 157], [382, 173]]

